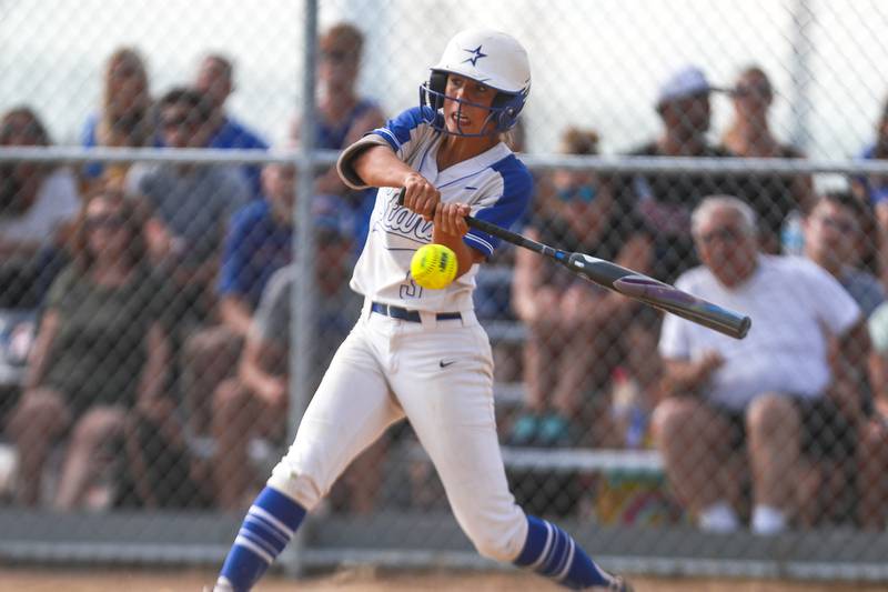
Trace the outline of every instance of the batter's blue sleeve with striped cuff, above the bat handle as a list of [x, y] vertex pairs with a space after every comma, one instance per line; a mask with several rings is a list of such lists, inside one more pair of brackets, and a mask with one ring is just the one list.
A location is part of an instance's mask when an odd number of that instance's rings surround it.
[[[533, 177], [514, 155], [497, 162], [493, 169], [503, 178], [503, 194], [492, 205], [475, 212], [475, 218], [508, 229], [524, 215], [531, 203]], [[463, 240], [487, 257], [493, 254], [501, 242], [496, 237], [474, 228], [470, 229]]]

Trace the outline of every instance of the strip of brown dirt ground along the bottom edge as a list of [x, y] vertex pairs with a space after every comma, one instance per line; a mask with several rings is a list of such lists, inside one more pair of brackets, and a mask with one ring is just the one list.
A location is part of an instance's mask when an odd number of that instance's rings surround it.
[[[214, 574], [198, 571], [89, 571], [0, 569], [0, 591], [16, 592], [200, 592]], [[855, 583], [777, 582], [763, 580], [690, 580], [633, 578], [637, 592], [875, 592], [885, 585]], [[280, 576], [263, 580], [256, 592], [556, 592], [564, 590], [522, 572], [392, 573], [373, 569], [340, 571], [299, 582]]]

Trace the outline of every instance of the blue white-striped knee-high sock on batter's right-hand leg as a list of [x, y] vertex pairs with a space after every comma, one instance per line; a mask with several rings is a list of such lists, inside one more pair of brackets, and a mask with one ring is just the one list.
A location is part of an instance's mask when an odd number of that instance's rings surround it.
[[529, 568], [572, 590], [614, 583], [614, 578], [596, 565], [569, 534], [531, 515], [527, 516], [527, 540], [515, 564]]

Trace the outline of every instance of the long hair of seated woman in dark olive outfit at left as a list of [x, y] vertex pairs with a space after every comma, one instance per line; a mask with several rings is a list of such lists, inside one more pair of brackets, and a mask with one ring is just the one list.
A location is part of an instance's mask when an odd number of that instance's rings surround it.
[[74, 232], [71, 238], [71, 255], [74, 264], [81, 273], [87, 273], [94, 260], [89, 249], [89, 230], [87, 229], [87, 210], [93, 200], [107, 200], [109, 203], [120, 209], [120, 215], [125, 220], [127, 231], [130, 233], [130, 241], [127, 244], [125, 255], [130, 267], [135, 268], [144, 263], [148, 252], [145, 250], [144, 237], [142, 234], [144, 224], [140, 210], [131, 199], [127, 199], [122, 191], [110, 187], [104, 187], [92, 191], [83, 204], [80, 207]]

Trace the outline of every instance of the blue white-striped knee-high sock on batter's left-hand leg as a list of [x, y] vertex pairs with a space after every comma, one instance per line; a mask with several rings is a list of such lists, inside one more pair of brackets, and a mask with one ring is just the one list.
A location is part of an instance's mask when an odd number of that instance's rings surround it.
[[283, 493], [265, 488], [250, 506], [222, 571], [219, 589], [246, 592], [262, 578], [293, 536], [305, 509]]

